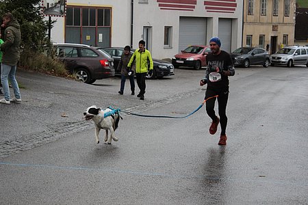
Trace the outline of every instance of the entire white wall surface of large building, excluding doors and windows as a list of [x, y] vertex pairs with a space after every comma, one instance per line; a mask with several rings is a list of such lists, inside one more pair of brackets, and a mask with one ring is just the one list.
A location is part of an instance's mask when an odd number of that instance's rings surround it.
[[[112, 46], [131, 45], [131, 0], [68, 0], [67, 5], [97, 6], [112, 8]], [[228, 1], [226, 1], [228, 2]], [[207, 12], [203, 0], [197, 0], [194, 11], [161, 10], [156, 0], [139, 3], [134, 0], [133, 8], [133, 48], [138, 48], [142, 39], [143, 27], [152, 27], [152, 55], [155, 58], [172, 58], [179, 49], [179, 16], [207, 18], [206, 42], [212, 36], [218, 36], [218, 19], [233, 18], [232, 44], [234, 50], [242, 45], [242, 8], [243, 2], [236, 0], [234, 13]], [[52, 17], [55, 19], [55, 17]], [[57, 17], [57, 23], [51, 31], [51, 40], [64, 42], [64, 18]], [[164, 27], [172, 26], [172, 47], [164, 49]]]

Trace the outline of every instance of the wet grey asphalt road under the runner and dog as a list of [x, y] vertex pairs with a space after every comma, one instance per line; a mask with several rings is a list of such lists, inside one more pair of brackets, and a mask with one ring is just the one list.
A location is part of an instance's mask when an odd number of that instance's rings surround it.
[[[238, 68], [230, 77], [228, 144], [209, 135], [204, 70], [146, 81], [145, 100], [18, 71], [21, 105], [0, 105], [0, 204], [308, 204], [305, 67]], [[90, 105], [120, 107], [118, 142], [95, 143]], [[103, 141], [103, 133], [100, 135]]]

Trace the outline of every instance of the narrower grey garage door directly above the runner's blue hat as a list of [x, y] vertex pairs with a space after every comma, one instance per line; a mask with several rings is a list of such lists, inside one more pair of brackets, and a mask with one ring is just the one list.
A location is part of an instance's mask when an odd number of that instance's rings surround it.
[[231, 33], [232, 33], [232, 19], [219, 18], [218, 20], [218, 38], [220, 38], [221, 49], [231, 52]]

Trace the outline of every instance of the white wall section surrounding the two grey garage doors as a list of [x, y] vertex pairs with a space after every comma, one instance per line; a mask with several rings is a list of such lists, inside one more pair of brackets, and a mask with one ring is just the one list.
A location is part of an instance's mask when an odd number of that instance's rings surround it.
[[[194, 16], [207, 18], [206, 42], [213, 36], [218, 36], [218, 19], [233, 18], [232, 45], [234, 50], [242, 45], [242, 8], [243, 2], [237, 0], [237, 8], [232, 13], [207, 12], [203, 0], [197, 0], [194, 11], [160, 10], [157, 1], [148, 3], [134, 1], [133, 46], [136, 48], [142, 37], [144, 26], [153, 28], [152, 55], [155, 58], [172, 58], [179, 51], [179, 16]], [[226, 1], [227, 2], [227, 1]], [[164, 27], [172, 26], [172, 49], [164, 49]]]

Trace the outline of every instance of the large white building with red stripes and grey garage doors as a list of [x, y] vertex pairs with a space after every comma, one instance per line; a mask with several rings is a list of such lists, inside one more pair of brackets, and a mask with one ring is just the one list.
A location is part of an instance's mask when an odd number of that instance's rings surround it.
[[142, 39], [161, 59], [191, 44], [208, 44], [213, 36], [228, 52], [242, 45], [241, 0], [67, 0], [65, 5], [64, 15], [47, 15], [57, 20], [53, 42], [136, 49]]

